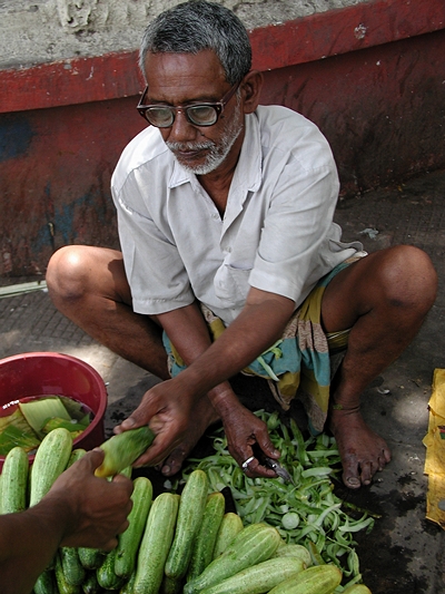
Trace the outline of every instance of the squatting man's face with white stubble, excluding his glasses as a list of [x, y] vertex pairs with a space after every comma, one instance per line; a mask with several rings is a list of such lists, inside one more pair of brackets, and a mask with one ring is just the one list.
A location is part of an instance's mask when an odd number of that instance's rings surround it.
[[[146, 59], [148, 94], [146, 104], [187, 106], [215, 103], [230, 89], [222, 67], [211, 50], [191, 53], [149, 53]], [[176, 111], [170, 128], [159, 128], [177, 160], [196, 175], [207, 175], [238, 157], [244, 132], [244, 114], [237, 95], [226, 105], [214, 126], [190, 124]]]

